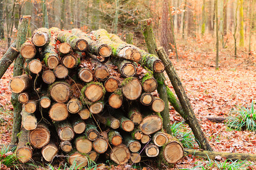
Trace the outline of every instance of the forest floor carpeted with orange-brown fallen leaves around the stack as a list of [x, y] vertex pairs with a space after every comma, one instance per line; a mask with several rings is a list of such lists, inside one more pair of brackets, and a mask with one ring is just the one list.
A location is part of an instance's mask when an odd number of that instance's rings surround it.
[[[0, 47], [0, 58], [6, 50]], [[236, 109], [236, 105], [247, 106], [251, 104], [251, 100], [256, 101], [255, 54], [248, 56], [240, 49], [238, 57], [234, 58], [233, 51], [221, 49], [219, 70], [215, 70], [216, 54], [213, 49], [205, 48], [205, 42], [201, 44], [197, 42], [193, 45], [193, 50], [183, 43], [178, 47], [178, 54], [179, 62], [176, 61], [173, 53], [170, 54], [170, 59], [213, 150], [256, 154], [254, 132], [229, 130], [225, 124], [210, 122], [204, 118], [205, 116], [228, 117], [230, 111]], [[12, 76], [13, 65], [0, 80], [0, 144], [5, 145], [10, 143], [13, 121], [11, 91], [8, 88]], [[169, 84], [171, 87], [171, 83]], [[172, 87], [171, 89], [173, 90]], [[173, 109], [171, 109], [171, 121], [182, 121]], [[207, 162], [189, 155], [177, 162], [175, 167], [190, 169], [198, 163]], [[252, 168], [255, 166], [252, 165]]]

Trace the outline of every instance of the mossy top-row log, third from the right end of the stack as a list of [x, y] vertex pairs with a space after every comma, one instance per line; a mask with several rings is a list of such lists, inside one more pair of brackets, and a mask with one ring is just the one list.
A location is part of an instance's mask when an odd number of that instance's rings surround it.
[[109, 57], [112, 50], [110, 47], [100, 41], [94, 41], [91, 39], [91, 37], [86, 34], [85, 32], [82, 32], [80, 29], [72, 29], [72, 33], [76, 36], [78, 36], [80, 39], [85, 39], [89, 44], [89, 51], [92, 54], [95, 54], [97, 56], [102, 57]]

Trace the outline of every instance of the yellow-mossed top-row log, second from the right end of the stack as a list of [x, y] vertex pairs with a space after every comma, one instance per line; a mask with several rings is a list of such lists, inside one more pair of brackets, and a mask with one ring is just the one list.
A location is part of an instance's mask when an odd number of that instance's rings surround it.
[[97, 40], [105, 42], [110, 46], [110, 48], [112, 48], [112, 55], [114, 57], [129, 59], [136, 62], [141, 60], [141, 54], [138, 52], [137, 49], [134, 49], [129, 44], [113, 42], [112, 40], [110, 40], [109, 34], [105, 29], [98, 29], [97, 31], [93, 31], [92, 33]]

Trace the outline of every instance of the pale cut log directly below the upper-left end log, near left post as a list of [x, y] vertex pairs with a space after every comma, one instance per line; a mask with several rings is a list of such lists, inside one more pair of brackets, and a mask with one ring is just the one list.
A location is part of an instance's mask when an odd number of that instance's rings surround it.
[[42, 63], [38, 59], [26, 59], [24, 63], [24, 69], [27, 73], [39, 74], [42, 67]]

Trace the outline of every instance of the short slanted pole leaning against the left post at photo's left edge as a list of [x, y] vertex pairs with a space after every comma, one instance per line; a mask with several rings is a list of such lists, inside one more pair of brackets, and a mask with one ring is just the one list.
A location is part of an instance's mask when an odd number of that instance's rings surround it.
[[13, 44], [11, 44], [7, 52], [0, 60], [0, 66], [2, 66], [2, 68], [0, 69], [0, 79], [2, 78], [3, 74], [5, 74], [5, 71], [11, 65], [11, 63], [13, 63], [14, 59], [18, 57], [19, 52], [16, 49], [16, 41], [17, 40], [14, 40]]

